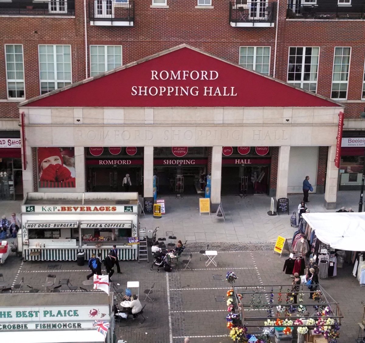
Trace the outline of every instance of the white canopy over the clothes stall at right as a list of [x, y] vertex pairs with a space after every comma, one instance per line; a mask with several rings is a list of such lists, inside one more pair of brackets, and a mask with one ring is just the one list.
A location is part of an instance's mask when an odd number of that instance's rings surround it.
[[302, 215], [318, 239], [331, 248], [365, 251], [365, 213], [335, 212]]

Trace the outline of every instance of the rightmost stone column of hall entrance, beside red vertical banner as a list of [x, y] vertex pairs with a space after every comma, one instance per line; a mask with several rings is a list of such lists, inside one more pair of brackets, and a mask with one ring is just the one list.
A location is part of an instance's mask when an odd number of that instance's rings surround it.
[[336, 208], [338, 168], [335, 166], [335, 155], [336, 146], [330, 146], [328, 148], [326, 190], [324, 192], [324, 207], [327, 210], [334, 210]]

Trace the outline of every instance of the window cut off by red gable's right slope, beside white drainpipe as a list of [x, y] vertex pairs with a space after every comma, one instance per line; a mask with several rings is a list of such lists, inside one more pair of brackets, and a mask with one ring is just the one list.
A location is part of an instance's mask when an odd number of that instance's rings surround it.
[[239, 65], [269, 75], [270, 46], [240, 46]]

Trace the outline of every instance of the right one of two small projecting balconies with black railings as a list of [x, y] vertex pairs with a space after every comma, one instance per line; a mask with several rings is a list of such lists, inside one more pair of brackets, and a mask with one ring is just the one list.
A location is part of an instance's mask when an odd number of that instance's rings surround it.
[[273, 23], [276, 2], [241, 0], [242, 3], [229, 3], [229, 22], [231, 23]]

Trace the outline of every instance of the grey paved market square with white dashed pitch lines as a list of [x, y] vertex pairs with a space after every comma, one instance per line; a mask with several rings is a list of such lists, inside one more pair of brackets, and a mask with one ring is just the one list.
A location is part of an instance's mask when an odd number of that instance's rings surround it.
[[[357, 209], [358, 192], [339, 192], [338, 208], [341, 206]], [[290, 284], [292, 279], [283, 270], [286, 255], [273, 254], [273, 241], [278, 234], [291, 238], [293, 228], [289, 225], [288, 215], [269, 217], [270, 198], [266, 196], [223, 197], [226, 223], [222, 218], [198, 212], [198, 197], [168, 198], [166, 212], [162, 219], [153, 219], [151, 215], [141, 216], [141, 226], [153, 229], [160, 226], [158, 237], [173, 233], [178, 239], [188, 240], [183, 259], [192, 253], [192, 270], [179, 270], [174, 267], [171, 273], [150, 271], [149, 263], [141, 261], [120, 262], [123, 274], [114, 274], [112, 279], [125, 289], [127, 281], [139, 281], [139, 294], [146, 304], [141, 319], [129, 321], [128, 327], [117, 324], [116, 336], [128, 343], [181, 343], [184, 337], [190, 337], [192, 343], [232, 342], [227, 336], [226, 295], [229, 288], [225, 280], [227, 270], [234, 271], [238, 279], [237, 286]], [[296, 210], [300, 196], [290, 196], [290, 212]], [[325, 211], [323, 196], [312, 195], [308, 207], [311, 212]], [[5, 206], [6, 205], [6, 211]], [[13, 207], [12, 207], [13, 205]], [[15, 205], [15, 206], [14, 206]], [[0, 203], [1, 210], [10, 214], [16, 211], [17, 203]], [[19, 208], [19, 207], [18, 207]], [[18, 212], [18, 211], [16, 211]], [[205, 267], [206, 257], [199, 254], [209, 243], [210, 249], [217, 250], [217, 267], [210, 264]], [[354, 342], [358, 334], [357, 323], [361, 321], [364, 288], [351, 275], [352, 267], [344, 264], [338, 268], [334, 278], [320, 280], [322, 286], [339, 303], [344, 316], [339, 343]], [[92, 286], [83, 286], [82, 281], [89, 274], [87, 263], [84, 267], [76, 262], [23, 262], [14, 253], [9, 255], [5, 264], [0, 265], [0, 273], [10, 284], [24, 283], [44, 291], [41, 286], [47, 274], [56, 274], [57, 282], [69, 278], [74, 286], [88, 288], [92, 297]], [[104, 272], [105, 273], [105, 272]], [[154, 302], [143, 302], [143, 290], [154, 284]], [[68, 291], [62, 286], [62, 291]], [[24, 286], [27, 291], [27, 286]], [[80, 291], [80, 289], [78, 289]], [[218, 297], [218, 298], [217, 298]], [[226, 297], [225, 297], [226, 298]], [[92, 303], [92, 298], [91, 298]], [[266, 314], [266, 311], [265, 311]], [[122, 323], [125, 325], [125, 323]]]

